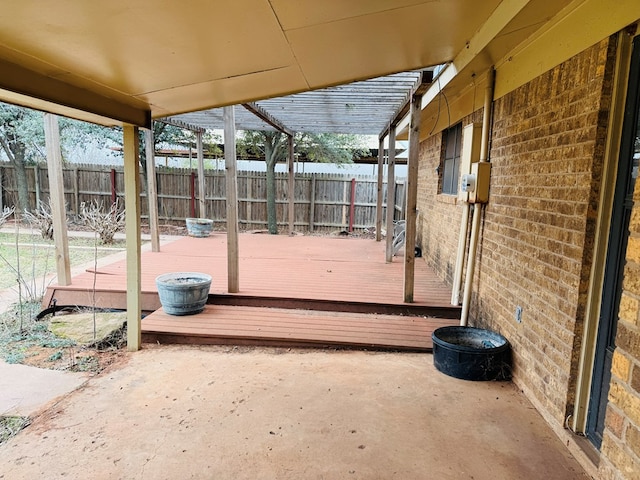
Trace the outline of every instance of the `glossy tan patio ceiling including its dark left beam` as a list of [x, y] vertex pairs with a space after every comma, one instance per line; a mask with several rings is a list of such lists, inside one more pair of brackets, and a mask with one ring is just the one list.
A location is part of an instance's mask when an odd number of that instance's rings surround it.
[[468, 82], [569, 3], [3, 0], [0, 100], [148, 126], [451, 61]]

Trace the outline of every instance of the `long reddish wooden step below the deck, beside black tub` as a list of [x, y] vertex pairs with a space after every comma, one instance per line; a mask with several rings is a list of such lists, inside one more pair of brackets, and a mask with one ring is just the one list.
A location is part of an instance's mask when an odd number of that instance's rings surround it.
[[456, 320], [283, 308], [207, 305], [172, 316], [162, 309], [142, 320], [145, 342], [392, 349], [430, 352], [431, 334]]

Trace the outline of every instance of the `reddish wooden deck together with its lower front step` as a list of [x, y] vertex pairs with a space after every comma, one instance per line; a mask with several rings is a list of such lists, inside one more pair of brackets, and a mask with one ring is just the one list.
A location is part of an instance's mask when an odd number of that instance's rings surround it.
[[[338, 346], [428, 351], [432, 331], [453, 325], [451, 291], [416, 259], [415, 302], [403, 303], [403, 262], [384, 261], [373, 240], [240, 235], [240, 292], [227, 292], [226, 235], [182, 237], [142, 254], [143, 340]], [[155, 278], [172, 271], [209, 273], [209, 304], [175, 317], [160, 308]], [[126, 264], [118, 261], [52, 285], [44, 304], [126, 308]]]

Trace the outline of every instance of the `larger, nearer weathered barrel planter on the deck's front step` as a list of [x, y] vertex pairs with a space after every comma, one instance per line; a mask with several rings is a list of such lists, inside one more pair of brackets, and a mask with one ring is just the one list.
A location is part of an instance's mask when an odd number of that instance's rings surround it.
[[156, 278], [158, 296], [165, 313], [194, 315], [204, 310], [211, 288], [211, 275], [197, 272], [165, 273]]

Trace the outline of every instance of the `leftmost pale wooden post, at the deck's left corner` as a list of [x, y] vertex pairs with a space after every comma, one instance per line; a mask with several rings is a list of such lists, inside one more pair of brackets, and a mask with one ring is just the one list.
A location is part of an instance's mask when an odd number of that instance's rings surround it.
[[[49, 199], [53, 216], [53, 241], [55, 244], [56, 273], [58, 284], [71, 285], [69, 263], [69, 239], [67, 237], [67, 211], [64, 201], [62, 177], [62, 152], [60, 151], [60, 128], [58, 116], [44, 114], [44, 137], [47, 146], [47, 170], [49, 173]], [[36, 175], [38, 171], [36, 170]], [[37, 189], [36, 189], [37, 190]]]

